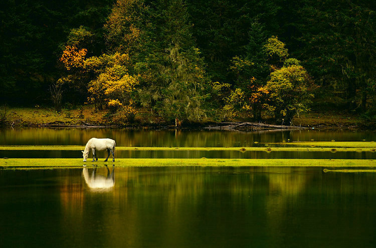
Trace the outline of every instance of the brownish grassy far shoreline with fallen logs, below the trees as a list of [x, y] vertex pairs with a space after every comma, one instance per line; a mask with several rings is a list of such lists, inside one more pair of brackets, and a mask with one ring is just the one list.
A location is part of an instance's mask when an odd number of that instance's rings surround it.
[[[12, 107], [8, 109], [7, 120], [3, 127], [46, 127], [46, 128], [129, 128], [129, 129], [175, 129], [174, 123], [164, 121], [158, 116], [140, 110], [133, 123], [114, 123], [107, 116], [107, 111], [95, 111], [90, 106], [76, 109], [63, 109], [56, 112], [52, 108]], [[281, 123], [283, 124], [283, 123]], [[183, 123], [183, 130], [227, 130], [227, 131], [274, 131], [292, 129], [320, 130], [375, 130], [376, 120], [367, 121], [359, 116], [336, 112], [310, 112], [295, 117], [290, 125], [278, 125], [273, 120], [249, 122], [238, 119], [233, 122], [215, 122], [210, 119], [201, 123]]]

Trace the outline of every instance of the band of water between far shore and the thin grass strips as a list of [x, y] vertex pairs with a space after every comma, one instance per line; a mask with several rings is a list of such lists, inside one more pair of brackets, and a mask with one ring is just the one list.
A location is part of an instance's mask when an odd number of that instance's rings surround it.
[[0, 130], [4, 145], [84, 145], [92, 138], [114, 138], [117, 146], [251, 146], [254, 142], [309, 141], [314, 139], [336, 141], [372, 140], [372, 132], [281, 131], [281, 132], [223, 132], [185, 130], [129, 130], [77, 128], [23, 128]]

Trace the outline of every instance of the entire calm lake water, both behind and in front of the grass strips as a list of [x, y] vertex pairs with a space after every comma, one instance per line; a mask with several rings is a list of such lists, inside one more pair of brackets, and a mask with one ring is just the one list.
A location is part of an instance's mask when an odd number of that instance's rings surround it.
[[[0, 129], [0, 145], [243, 147], [375, 132]], [[264, 145], [264, 144], [262, 144]], [[117, 151], [123, 158], [344, 158], [372, 152]], [[104, 154], [99, 154], [104, 156]], [[80, 151], [0, 157], [81, 158]], [[94, 169], [96, 168], [96, 169]], [[322, 168], [0, 169], [0, 247], [376, 247], [376, 173]]]

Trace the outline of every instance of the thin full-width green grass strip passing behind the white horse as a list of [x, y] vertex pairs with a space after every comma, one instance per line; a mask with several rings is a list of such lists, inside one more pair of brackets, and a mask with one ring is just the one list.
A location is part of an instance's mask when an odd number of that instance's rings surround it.
[[[291, 144], [291, 143], [283, 143]], [[50, 145], [50, 146], [0, 146], [0, 150], [84, 150], [84, 146], [74, 145]], [[345, 152], [345, 151], [376, 151], [370, 147], [116, 147], [117, 151], [313, 151], [313, 152]]]

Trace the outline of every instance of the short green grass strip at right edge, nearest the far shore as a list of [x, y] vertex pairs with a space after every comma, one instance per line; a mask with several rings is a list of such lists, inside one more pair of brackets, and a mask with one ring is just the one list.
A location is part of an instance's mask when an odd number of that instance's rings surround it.
[[[261, 143], [264, 144], [264, 143]], [[293, 142], [271, 142], [272, 145], [287, 146], [316, 146], [316, 147], [352, 147], [352, 148], [376, 148], [376, 142], [373, 141], [293, 141]]]

